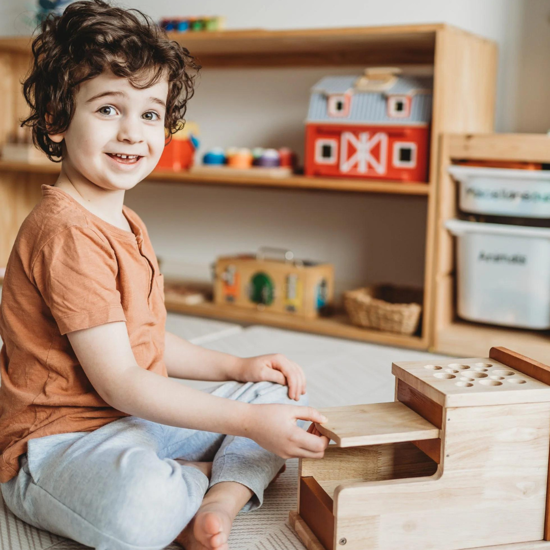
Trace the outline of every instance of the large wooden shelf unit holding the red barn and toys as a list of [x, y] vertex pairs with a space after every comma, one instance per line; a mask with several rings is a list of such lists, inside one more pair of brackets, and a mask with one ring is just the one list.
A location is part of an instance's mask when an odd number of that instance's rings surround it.
[[[274, 320], [262, 314], [250, 322], [276, 324], [297, 330], [357, 338], [372, 342], [408, 345], [427, 349], [433, 328], [433, 259], [437, 204], [437, 163], [439, 135], [443, 132], [492, 131], [497, 70], [494, 42], [446, 24], [350, 27], [343, 29], [243, 30], [204, 33], [172, 33], [174, 40], [189, 49], [205, 69], [270, 67], [339, 67], [342, 65], [429, 65], [433, 68], [433, 114], [430, 144], [430, 181], [392, 183], [373, 180], [306, 178], [284, 181], [266, 178], [236, 180], [229, 177], [197, 177], [190, 174], [152, 174], [150, 180], [174, 183], [254, 186], [256, 188], [357, 191], [425, 196], [424, 304], [422, 336], [399, 338], [376, 331], [351, 327], [345, 321], [296, 323], [292, 318]], [[0, 38], [0, 93], [10, 105], [12, 116], [0, 122], [0, 143], [26, 113], [19, 81], [29, 67], [29, 37]], [[48, 167], [50, 169], [50, 167]], [[0, 164], [0, 265], [5, 265], [19, 226], [40, 199], [41, 183], [53, 183], [56, 172], [46, 173], [34, 165]], [[327, 261], [330, 261], [327, 258]], [[168, 307], [171, 302], [167, 301]], [[238, 311], [222, 311], [212, 306], [194, 306], [195, 315], [219, 318], [246, 317]], [[188, 310], [188, 312], [190, 312]], [[295, 326], [299, 324], [300, 326]]]

